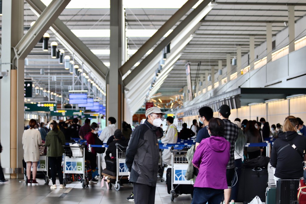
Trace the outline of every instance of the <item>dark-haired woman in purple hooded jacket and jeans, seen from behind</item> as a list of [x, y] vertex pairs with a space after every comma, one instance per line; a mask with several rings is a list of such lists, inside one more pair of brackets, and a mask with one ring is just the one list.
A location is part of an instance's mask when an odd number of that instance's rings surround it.
[[225, 125], [219, 118], [209, 121], [211, 137], [202, 139], [194, 153], [192, 164], [199, 169], [194, 184], [192, 204], [220, 204], [227, 189], [226, 165], [230, 160], [230, 143], [224, 138]]

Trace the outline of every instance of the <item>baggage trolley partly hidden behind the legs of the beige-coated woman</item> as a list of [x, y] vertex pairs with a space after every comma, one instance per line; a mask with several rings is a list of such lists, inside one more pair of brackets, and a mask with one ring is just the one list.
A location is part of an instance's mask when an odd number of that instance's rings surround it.
[[[31, 172], [32, 171], [33, 171], [33, 167], [31, 167]], [[48, 157], [45, 154], [39, 156], [39, 161], [37, 162], [36, 178], [42, 178], [43, 180], [45, 180], [46, 184], [49, 184]], [[28, 184], [28, 176], [27, 176], [26, 168], [24, 171], [24, 182], [25, 184]]]

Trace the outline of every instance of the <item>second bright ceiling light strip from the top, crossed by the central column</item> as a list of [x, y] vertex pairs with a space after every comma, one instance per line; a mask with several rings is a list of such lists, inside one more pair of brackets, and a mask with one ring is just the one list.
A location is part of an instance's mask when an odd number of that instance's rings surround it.
[[[127, 37], [151, 37], [157, 29], [127, 29]], [[164, 37], [167, 37], [173, 30], [170, 29]], [[72, 29], [71, 32], [78, 38], [107, 38], [110, 37], [110, 29]]]

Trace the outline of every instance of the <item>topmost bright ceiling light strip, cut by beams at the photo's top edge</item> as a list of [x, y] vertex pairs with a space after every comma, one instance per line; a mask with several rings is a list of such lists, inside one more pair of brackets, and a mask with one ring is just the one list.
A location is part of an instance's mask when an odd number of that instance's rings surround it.
[[[46, 6], [50, 4], [52, 0], [41, 0]], [[192, 8], [196, 8], [203, 0], [200, 0]], [[155, 0], [155, 1], [140, 1], [140, 0], [123, 0], [124, 8], [133, 9], [179, 9], [183, 6], [187, 0]], [[72, 0], [66, 9], [109, 9], [110, 0]]]

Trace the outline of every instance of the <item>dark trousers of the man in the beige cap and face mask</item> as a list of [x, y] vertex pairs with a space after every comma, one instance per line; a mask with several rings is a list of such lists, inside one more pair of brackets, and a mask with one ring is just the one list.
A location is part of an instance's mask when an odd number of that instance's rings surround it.
[[155, 203], [156, 186], [148, 186], [145, 184], [133, 184], [134, 202], [135, 204], [154, 204]]

